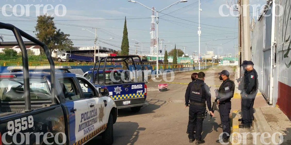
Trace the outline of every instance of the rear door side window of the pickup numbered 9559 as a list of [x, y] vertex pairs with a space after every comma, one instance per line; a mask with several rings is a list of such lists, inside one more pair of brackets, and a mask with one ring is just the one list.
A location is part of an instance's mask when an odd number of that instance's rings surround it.
[[77, 87], [74, 85], [72, 78], [63, 78], [58, 81], [60, 82], [66, 100], [81, 99], [81, 95], [78, 94]]

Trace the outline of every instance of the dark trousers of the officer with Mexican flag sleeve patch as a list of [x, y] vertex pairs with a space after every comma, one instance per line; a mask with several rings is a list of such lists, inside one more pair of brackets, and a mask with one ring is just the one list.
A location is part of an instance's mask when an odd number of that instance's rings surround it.
[[245, 92], [242, 93], [242, 118], [244, 124], [250, 126], [253, 123], [253, 103], [256, 93], [245, 96]]

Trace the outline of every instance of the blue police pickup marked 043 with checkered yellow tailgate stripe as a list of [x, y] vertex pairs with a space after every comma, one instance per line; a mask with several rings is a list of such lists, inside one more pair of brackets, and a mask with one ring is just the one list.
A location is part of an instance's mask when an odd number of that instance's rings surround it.
[[[138, 58], [139, 62], [134, 61], [134, 58]], [[128, 60], [133, 62], [132, 71], [129, 70]], [[125, 64], [127, 70], [111, 68], [112, 64], [116, 66], [121, 63]], [[95, 62], [93, 70], [83, 76], [97, 88], [107, 88], [118, 109], [130, 107], [133, 112], [138, 112], [143, 105], [148, 105], [143, 64], [138, 55], [100, 58], [99, 62]]]

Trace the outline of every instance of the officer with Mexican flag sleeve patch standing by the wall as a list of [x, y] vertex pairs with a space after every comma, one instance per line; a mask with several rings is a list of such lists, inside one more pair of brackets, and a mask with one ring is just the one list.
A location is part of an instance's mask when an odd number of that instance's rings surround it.
[[244, 85], [242, 90], [242, 118], [243, 123], [239, 128], [251, 128], [253, 123], [253, 102], [258, 93], [258, 73], [253, 68], [252, 61], [246, 63]]

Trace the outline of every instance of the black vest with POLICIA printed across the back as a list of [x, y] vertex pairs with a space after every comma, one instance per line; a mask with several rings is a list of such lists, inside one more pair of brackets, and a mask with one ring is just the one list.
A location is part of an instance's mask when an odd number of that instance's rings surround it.
[[202, 96], [203, 89], [202, 86], [205, 83], [197, 84], [196, 81], [193, 83], [193, 86], [190, 90], [190, 101], [198, 102], [198, 103], [205, 103], [206, 99]]

